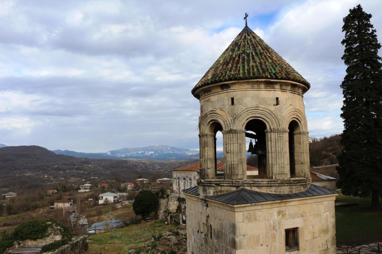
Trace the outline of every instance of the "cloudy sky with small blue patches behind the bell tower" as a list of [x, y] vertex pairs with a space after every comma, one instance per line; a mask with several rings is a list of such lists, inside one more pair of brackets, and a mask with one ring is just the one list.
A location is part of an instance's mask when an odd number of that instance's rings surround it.
[[342, 18], [381, 1], [0, 0], [0, 143], [196, 149], [191, 89], [248, 25], [305, 79], [311, 136], [342, 132]]

